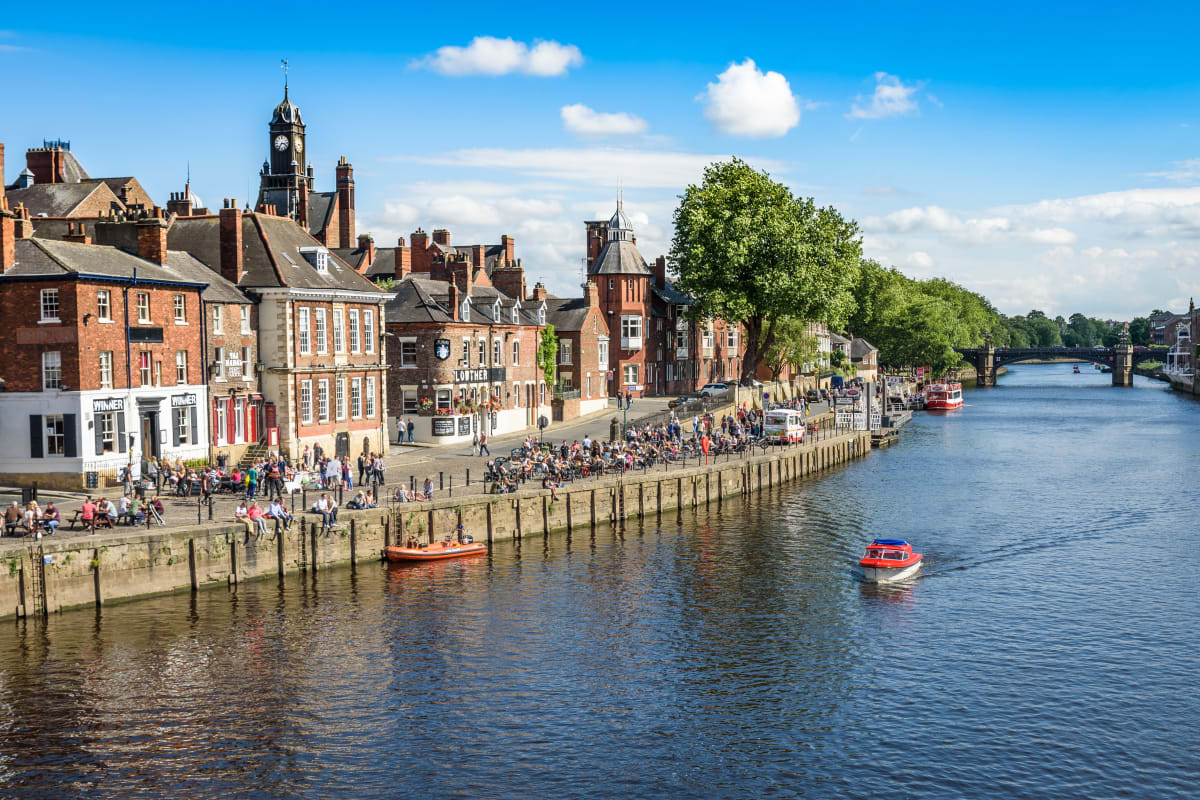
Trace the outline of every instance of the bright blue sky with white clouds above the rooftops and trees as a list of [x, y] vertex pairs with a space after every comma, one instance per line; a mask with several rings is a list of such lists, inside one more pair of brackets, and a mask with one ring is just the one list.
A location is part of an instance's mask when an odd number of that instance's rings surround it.
[[858, 221], [864, 253], [1007, 314], [1129, 319], [1200, 295], [1200, 72], [1188, 4], [19, 4], [0, 142], [68, 139], [166, 203], [253, 200], [282, 97], [359, 231], [516, 237], [578, 294], [618, 186], [647, 260], [738, 156]]

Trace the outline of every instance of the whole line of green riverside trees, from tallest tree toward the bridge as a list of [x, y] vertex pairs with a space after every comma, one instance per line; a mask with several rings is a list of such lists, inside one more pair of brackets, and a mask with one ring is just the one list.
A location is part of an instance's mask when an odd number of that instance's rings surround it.
[[[956, 348], [1116, 344], [1121, 326], [1040, 311], [1006, 317], [980, 294], [946, 278], [917, 279], [863, 258], [858, 223], [818, 207], [733, 158], [704, 169], [674, 212], [671, 259], [676, 287], [695, 297], [691, 315], [740, 323], [743, 378], [766, 365], [808, 372], [820, 362], [810, 323], [869, 341], [887, 366], [946, 373]], [[1140, 325], [1145, 323], [1145, 325]], [[1134, 343], [1150, 325], [1130, 329]], [[829, 368], [830, 365], [822, 365]]]

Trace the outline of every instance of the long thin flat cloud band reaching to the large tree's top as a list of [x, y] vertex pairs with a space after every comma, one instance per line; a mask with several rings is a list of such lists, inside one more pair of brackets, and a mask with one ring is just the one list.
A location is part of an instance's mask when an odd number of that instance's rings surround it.
[[[547, 148], [506, 150], [502, 148], [472, 148], [432, 156], [392, 156], [384, 161], [402, 161], [438, 167], [502, 169], [522, 175], [572, 181], [593, 187], [616, 187], [617, 179], [626, 187], [654, 187], [678, 191], [698, 182], [704, 167], [728, 156], [670, 152], [660, 150], [630, 150], [623, 148]], [[745, 156], [746, 163], [769, 173], [785, 173], [778, 161]]]

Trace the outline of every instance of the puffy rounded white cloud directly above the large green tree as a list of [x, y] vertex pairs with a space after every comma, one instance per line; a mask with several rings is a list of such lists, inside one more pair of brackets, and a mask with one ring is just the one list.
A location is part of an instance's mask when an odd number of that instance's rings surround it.
[[787, 78], [760, 71], [752, 59], [731, 64], [696, 100], [704, 103], [704, 116], [731, 136], [780, 137], [800, 122]]

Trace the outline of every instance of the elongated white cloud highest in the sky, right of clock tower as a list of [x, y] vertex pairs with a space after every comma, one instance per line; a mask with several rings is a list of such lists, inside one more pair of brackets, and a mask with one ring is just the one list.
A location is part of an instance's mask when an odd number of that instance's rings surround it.
[[467, 47], [448, 44], [433, 54], [413, 61], [412, 67], [425, 67], [444, 76], [503, 76], [520, 72], [528, 76], [553, 77], [566, 74], [570, 67], [583, 64], [583, 54], [574, 44], [524, 42], [494, 36], [476, 36]]

